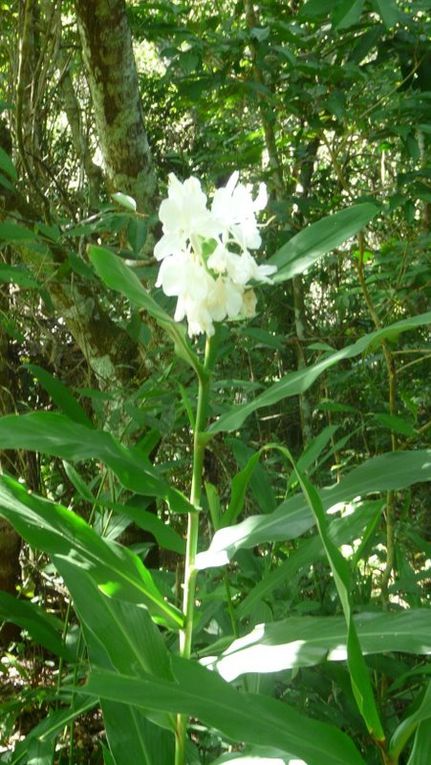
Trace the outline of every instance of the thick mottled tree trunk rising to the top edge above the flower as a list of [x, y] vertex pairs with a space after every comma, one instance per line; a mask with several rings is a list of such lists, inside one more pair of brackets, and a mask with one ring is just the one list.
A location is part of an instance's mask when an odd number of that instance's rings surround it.
[[75, 0], [96, 130], [112, 191], [155, 207], [156, 175], [144, 127], [124, 0]]

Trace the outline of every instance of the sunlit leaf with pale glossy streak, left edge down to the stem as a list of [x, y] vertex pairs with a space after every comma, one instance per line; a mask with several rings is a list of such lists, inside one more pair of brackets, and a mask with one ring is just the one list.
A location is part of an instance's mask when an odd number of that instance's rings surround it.
[[182, 614], [167, 603], [144, 564], [126, 547], [106, 542], [83, 518], [62, 505], [28, 494], [12, 478], [0, 476], [0, 515], [31, 545], [92, 572], [110, 597], [145, 604], [162, 623], [177, 628]]

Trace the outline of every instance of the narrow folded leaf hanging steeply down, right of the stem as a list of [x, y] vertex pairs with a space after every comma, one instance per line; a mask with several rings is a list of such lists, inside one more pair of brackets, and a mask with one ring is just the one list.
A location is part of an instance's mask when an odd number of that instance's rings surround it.
[[361, 644], [353, 621], [350, 604], [350, 569], [348, 563], [328, 534], [327, 517], [319, 494], [308, 478], [297, 469], [289, 450], [285, 449], [284, 451], [293, 465], [301, 489], [314, 515], [319, 536], [334, 577], [338, 597], [341, 601], [347, 624], [347, 666], [349, 668], [353, 695], [370, 734], [377, 741], [384, 742], [385, 733], [380, 722], [368, 667], [362, 655]]

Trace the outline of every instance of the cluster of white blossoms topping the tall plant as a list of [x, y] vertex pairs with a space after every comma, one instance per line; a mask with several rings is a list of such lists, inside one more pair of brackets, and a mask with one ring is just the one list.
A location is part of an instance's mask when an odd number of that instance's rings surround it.
[[256, 295], [249, 282], [270, 282], [274, 266], [257, 265], [250, 250], [261, 245], [256, 213], [266, 205], [264, 183], [251, 189], [234, 173], [215, 191], [211, 208], [197, 178], [184, 183], [171, 173], [168, 198], [160, 206], [163, 236], [154, 249], [162, 261], [156, 282], [178, 298], [175, 320], [186, 317], [190, 336], [214, 334], [214, 322], [254, 316]]

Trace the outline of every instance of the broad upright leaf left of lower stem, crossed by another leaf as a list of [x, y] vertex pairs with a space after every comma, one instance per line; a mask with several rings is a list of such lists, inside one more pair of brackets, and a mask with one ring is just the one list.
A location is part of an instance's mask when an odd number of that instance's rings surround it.
[[[144, 677], [172, 680], [169, 654], [148, 612], [134, 603], [107, 598], [90, 572], [62, 560], [60, 573], [78, 613], [92, 666]], [[103, 700], [109, 745], [116, 765], [159, 765], [174, 754], [175, 721], [166, 712], [152, 712]], [[152, 719], [148, 719], [148, 717]]]

